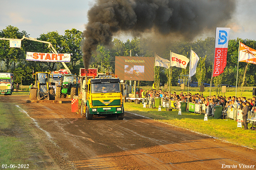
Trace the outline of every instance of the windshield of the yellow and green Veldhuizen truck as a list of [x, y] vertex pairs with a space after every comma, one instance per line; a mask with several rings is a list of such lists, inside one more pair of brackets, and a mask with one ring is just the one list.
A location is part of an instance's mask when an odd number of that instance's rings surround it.
[[92, 84], [92, 93], [118, 93], [120, 91], [119, 83], [98, 83]]

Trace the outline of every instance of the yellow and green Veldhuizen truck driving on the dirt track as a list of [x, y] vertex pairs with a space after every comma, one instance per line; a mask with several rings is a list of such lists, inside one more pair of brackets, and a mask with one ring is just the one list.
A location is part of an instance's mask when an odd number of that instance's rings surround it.
[[124, 119], [122, 86], [119, 78], [90, 78], [82, 82], [81, 116], [111, 116]]

